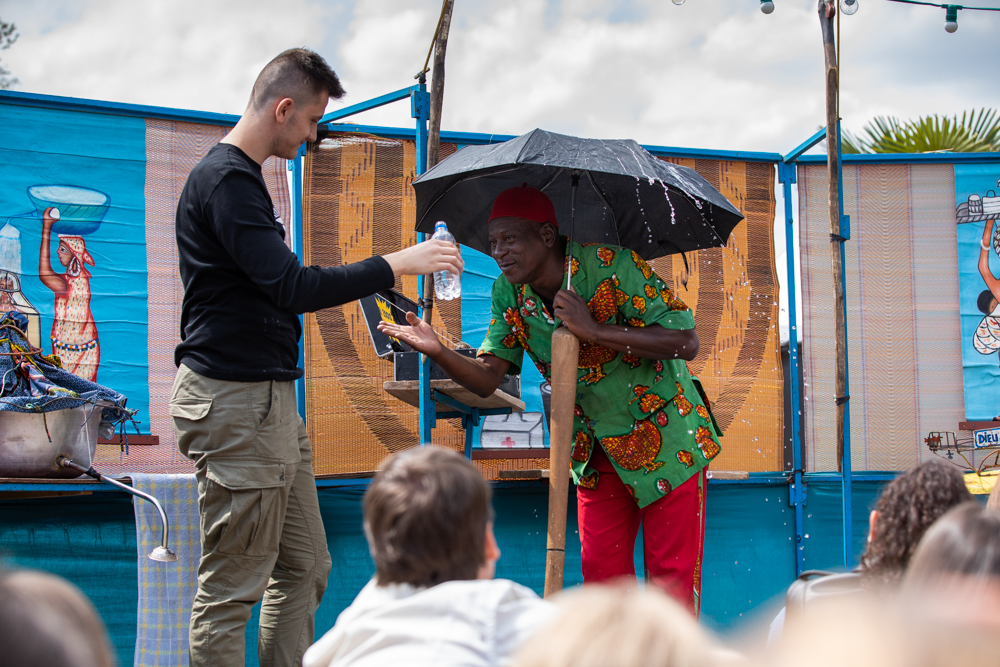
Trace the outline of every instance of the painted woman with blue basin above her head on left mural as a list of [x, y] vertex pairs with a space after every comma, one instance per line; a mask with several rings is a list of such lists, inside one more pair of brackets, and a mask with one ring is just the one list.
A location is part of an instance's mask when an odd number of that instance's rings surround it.
[[[63, 368], [84, 379], [95, 382], [97, 369], [101, 363], [101, 347], [97, 335], [97, 324], [90, 310], [90, 271], [94, 259], [87, 252], [84, 235], [91, 234], [101, 226], [111, 200], [103, 192], [72, 185], [33, 185], [28, 188], [28, 199], [35, 210], [13, 218], [34, 218], [42, 220], [42, 240], [38, 254], [38, 278], [55, 295], [52, 319], [52, 353], [62, 360]], [[7, 258], [3, 243], [8, 241], [0, 229], [0, 264]], [[13, 228], [11, 228], [13, 229]], [[14, 230], [16, 232], [16, 230]], [[65, 272], [52, 269], [51, 238], [55, 232], [59, 238], [56, 255]], [[20, 241], [17, 243], [17, 269], [20, 273]], [[10, 248], [14, 250], [13, 246]], [[13, 254], [13, 253], [11, 253]], [[11, 262], [13, 264], [13, 262]], [[16, 278], [10, 265], [0, 266], [0, 301], [4, 301], [6, 291], [4, 281]], [[17, 281], [17, 293], [20, 283]], [[21, 295], [23, 298], [23, 294]], [[34, 310], [27, 299], [24, 302]], [[11, 298], [12, 309], [21, 310], [21, 305]], [[37, 310], [34, 310], [37, 317]], [[35, 343], [37, 344], [37, 343]]]

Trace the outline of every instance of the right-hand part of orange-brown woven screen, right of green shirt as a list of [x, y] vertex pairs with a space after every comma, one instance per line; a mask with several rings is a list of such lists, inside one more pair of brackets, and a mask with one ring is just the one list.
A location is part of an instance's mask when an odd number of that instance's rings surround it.
[[652, 262], [695, 313], [701, 348], [688, 367], [705, 386], [725, 433], [712, 469], [781, 470], [784, 395], [774, 267], [774, 165], [670, 161], [695, 169], [746, 218], [725, 248], [688, 254], [686, 288], [680, 255]]

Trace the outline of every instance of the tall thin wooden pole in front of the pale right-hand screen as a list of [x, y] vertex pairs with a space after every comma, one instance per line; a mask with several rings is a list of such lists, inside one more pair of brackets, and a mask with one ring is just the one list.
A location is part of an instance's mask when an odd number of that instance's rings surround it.
[[844, 316], [844, 266], [841, 262], [842, 237], [840, 235], [840, 153], [837, 142], [839, 72], [837, 46], [833, 31], [833, 17], [837, 6], [830, 0], [819, 0], [819, 22], [823, 33], [823, 53], [826, 59], [826, 154], [828, 171], [828, 197], [830, 211], [830, 265], [833, 269], [834, 335], [836, 337], [837, 377], [837, 469], [842, 472], [844, 455], [844, 411], [847, 409], [847, 322]]

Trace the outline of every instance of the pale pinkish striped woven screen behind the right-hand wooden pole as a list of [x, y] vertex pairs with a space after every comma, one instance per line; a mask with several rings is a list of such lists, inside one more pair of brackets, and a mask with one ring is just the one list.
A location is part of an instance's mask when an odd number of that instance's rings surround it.
[[[798, 192], [806, 466], [836, 470], [826, 165], [799, 167]], [[845, 165], [844, 209], [851, 465], [906, 470], [964, 419], [953, 167]]]

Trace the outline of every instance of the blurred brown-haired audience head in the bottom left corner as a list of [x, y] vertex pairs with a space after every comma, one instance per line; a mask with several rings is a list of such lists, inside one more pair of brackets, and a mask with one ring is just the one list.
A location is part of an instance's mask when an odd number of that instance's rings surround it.
[[65, 579], [43, 572], [0, 573], [0, 663], [5, 667], [111, 667], [97, 610]]

